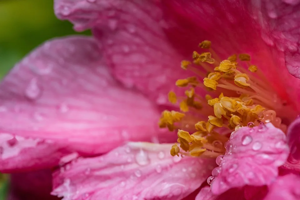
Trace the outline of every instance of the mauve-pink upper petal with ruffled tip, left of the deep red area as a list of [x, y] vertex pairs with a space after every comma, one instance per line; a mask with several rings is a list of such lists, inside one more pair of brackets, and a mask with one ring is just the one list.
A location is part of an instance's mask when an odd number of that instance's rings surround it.
[[[66, 7], [69, 14], [63, 15]], [[158, 1], [57, 0], [55, 8], [58, 17], [73, 22], [76, 30], [94, 27], [113, 75], [160, 105], [168, 104], [170, 90], [183, 94], [176, 80], [194, 75], [180, 68], [182, 60], [191, 58], [192, 49], [182, 55], [169, 43]]]

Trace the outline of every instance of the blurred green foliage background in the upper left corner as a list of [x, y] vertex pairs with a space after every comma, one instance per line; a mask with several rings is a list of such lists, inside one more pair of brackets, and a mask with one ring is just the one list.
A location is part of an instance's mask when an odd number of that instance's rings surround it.
[[77, 34], [55, 17], [53, 0], [0, 0], [0, 29], [0, 78], [43, 41]]

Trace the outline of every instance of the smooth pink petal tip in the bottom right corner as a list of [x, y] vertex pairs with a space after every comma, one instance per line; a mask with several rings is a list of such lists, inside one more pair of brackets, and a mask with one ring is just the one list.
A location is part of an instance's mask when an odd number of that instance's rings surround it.
[[264, 200], [297, 200], [300, 198], [300, 177], [296, 174], [280, 176], [269, 187]]

